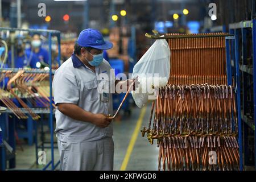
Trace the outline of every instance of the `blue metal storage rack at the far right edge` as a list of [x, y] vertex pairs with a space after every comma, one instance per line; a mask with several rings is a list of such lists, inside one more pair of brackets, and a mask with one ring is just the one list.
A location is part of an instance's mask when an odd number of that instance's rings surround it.
[[[220, 26], [221, 27], [221, 26]], [[212, 30], [221, 31], [219, 28], [212, 28]], [[231, 72], [234, 76], [234, 82], [236, 83], [236, 97], [237, 97], [237, 107], [238, 107], [238, 119], [243, 121], [243, 123], [246, 123], [246, 125], [243, 125], [245, 128], [250, 127], [252, 130], [254, 130], [254, 168], [256, 169], [256, 135], [255, 135], [255, 124], [256, 124], [256, 84], [250, 84], [248, 83], [248, 75], [253, 76], [253, 83], [256, 83], [256, 19], [253, 20], [247, 20], [237, 23], [231, 23], [229, 24], [229, 33], [233, 34], [235, 36], [235, 39], [231, 41], [231, 50], [230, 50], [230, 60], [231, 60]], [[251, 55], [252, 55], [252, 61], [253, 65], [250, 67], [247, 65], [247, 51], [248, 46], [247, 43], [249, 41], [248, 36], [251, 36], [252, 41], [252, 49]], [[242, 40], [241, 44], [239, 44], [239, 40]], [[241, 50], [241, 53], [240, 53]], [[240, 63], [240, 57], [242, 57], [242, 63]], [[241, 73], [241, 75], [240, 75]], [[242, 83], [240, 81], [242, 80]], [[246, 111], [247, 106], [245, 104], [247, 100], [247, 92], [248, 88], [253, 86], [253, 106], [254, 106], [254, 118], [251, 119], [247, 117]], [[241, 89], [242, 88], [242, 102], [241, 102]], [[241, 105], [243, 110], [241, 110]], [[242, 122], [239, 122], [240, 125], [238, 125], [238, 142], [240, 146], [240, 170], [244, 169], [244, 165], [247, 163], [248, 158], [248, 148], [247, 148], [247, 130], [242, 128]], [[242, 138], [243, 136], [243, 138]], [[243, 161], [244, 160], [244, 161]]]

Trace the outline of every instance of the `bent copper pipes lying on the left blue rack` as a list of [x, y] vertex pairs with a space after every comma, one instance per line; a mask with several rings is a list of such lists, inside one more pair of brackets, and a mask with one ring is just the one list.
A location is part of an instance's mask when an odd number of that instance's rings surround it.
[[6, 78], [8, 78], [7, 88], [0, 89], [0, 101], [19, 119], [27, 119], [28, 117], [20, 107], [14, 104], [14, 100], [19, 102], [19, 105], [26, 110], [32, 119], [39, 119], [40, 116], [34, 113], [31, 107], [40, 105], [49, 108], [49, 86], [47, 86], [49, 85], [49, 74], [25, 73], [22, 69], [16, 73], [2, 71], [0, 82], [5, 81]]

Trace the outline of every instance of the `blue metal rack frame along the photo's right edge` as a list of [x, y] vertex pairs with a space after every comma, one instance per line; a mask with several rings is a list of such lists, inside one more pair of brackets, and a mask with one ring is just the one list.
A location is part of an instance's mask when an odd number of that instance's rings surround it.
[[[241, 34], [240, 34], [241, 31]], [[256, 148], [256, 135], [255, 135], [255, 124], [256, 124], [256, 84], [253, 84], [253, 103], [254, 103], [254, 119], [250, 119], [248, 118], [244, 111], [246, 110], [245, 108], [245, 101], [246, 101], [246, 97], [247, 97], [247, 87], [250, 87], [252, 85], [248, 85], [247, 79], [245, 77], [245, 73], [249, 74], [249, 75], [253, 75], [253, 83], [256, 83], [256, 19], [253, 20], [249, 20], [249, 21], [244, 21], [244, 22], [238, 22], [238, 23], [232, 23], [229, 24], [229, 32], [230, 34], [234, 34], [236, 36], [236, 41], [233, 43], [233, 47], [234, 47], [234, 52], [232, 53], [234, 56], [234, 59], [236, 60], [235, 63], [233, 63], [234, 67], [236, 67], [236, 82], [237, 82], [237, 92], [239, 94], [237, 94], [237, 98], [240, 100], [241, 99], [241, 94], [240, 94], [240, 79], [239, 79], [239, 75], [240, 75], [240, 71], [242, 72], [242, 90], [243, 90], [243, 100], [242, 100], [242, 106], [243, 106], [243, 110], [242, 113], [240, 115], [240, 117], [242, 118], [243, 122], [245, 122], [252, 130], [254, 130], [254, 151]], [[246, 65], [247, 62], [247, 35], [251, 34], [252, 36], [252, 56], [253, 56], [253, 68], [250, 68]], [[240, 55], [240, 45], [238, 43], [239, 39], [242, 39], [242, 44], [241, 44], [241, 48], [242, 48], [242, 55]], [[240, 61], [240, 57], [242, 56], [242, 64], [239, 63]], [[242, 131], [242, 129], [240, 129]], [[243, 130], [243, 134], [245, 136], [247, 136], [247, 130]], [[247, 137], [245, 138], [245, 142], [247, 141]], [[241, 142], [242, 142], [242, 138], [241, 138]], [[245, 158], [245, 162], [247, 160], [247, 145], [244, 145], [244, 155], [241, 154], [240, 159], [242, 160], [243, 157]], [[242, 157], [243, 156], [243, 157]], [[242, 161], [243, 163], [243, 161]], [[256, 169], [256, 154], [254, 152], [254, 167]]]

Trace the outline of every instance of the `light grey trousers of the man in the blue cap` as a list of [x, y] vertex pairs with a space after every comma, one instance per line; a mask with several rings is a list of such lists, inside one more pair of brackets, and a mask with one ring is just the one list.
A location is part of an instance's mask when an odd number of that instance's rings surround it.
[[113, 171], [112, 137], [82, 143], [58, 140], [61, 171]]

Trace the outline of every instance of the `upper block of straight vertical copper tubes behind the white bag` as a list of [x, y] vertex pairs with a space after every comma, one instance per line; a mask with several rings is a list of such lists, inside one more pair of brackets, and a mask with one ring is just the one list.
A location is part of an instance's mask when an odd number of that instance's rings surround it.
[[[173, 34], [167, 34], [170, 35]], [[226, 84], [225, 36], [193, 38], [191, 35], [191, 38], [168, 39], [168, 43], [171, 49], [168, 84]]]

